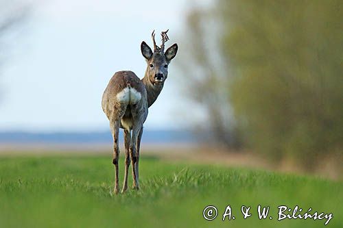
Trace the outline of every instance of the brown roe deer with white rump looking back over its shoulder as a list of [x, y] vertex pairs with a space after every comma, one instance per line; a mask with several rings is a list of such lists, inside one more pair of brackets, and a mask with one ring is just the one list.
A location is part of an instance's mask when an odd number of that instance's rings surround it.
[[[168, 30], [167, 30], [168, 31]], [[118, 160], [119, 128], [124, 131], [125, 174], [121, 192], [128, 189], [128, 168], [132, 163], [132, 188], [139, 189], [139, 148], [143, 134], [143, 123], [147, 118], [147, 108], [160, 94], [168, 75], [168, 65], [178, 51], [178, 45], [171, 45], [165, 51], [165, 42], [169, 40], [167, 31], [161, 33], [162, 44], [158, 47], [155, 34], [152, 32], [154, 52], [146, 44], [141, 43], [141, 53], [147, 62], [143, 79], [139, 79], [132, 71], [119, 71], [113, 75], [102, 96], [102, 110], [110, 121], [113, 136], [113, 164], [115, 165], [115, 188], [119, 192]], [[132, 131], [132, 135], [131, 135]]]

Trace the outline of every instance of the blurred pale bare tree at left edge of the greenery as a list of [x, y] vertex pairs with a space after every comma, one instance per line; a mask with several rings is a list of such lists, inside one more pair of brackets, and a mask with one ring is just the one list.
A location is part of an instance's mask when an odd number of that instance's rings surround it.
[[229, 67], [220, 51], [220, 25], [212, 10], [195, 9], [187, 16], [185, 46], [187, 50], [178, 61], [185, 84], [186, 97], [205, 111], [205, 120], [197, 129], [209, 132], [205, 140], [236, 149], [240, 142], [229, 105]]

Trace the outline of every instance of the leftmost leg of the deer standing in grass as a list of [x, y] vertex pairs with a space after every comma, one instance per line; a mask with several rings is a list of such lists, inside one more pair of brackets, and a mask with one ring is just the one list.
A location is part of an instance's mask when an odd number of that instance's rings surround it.
[[115, 165], [115, 189], [113, 192], [119, 192], [119, 124], [110, 123], [110, 129], [113, 136], [113, 164]]

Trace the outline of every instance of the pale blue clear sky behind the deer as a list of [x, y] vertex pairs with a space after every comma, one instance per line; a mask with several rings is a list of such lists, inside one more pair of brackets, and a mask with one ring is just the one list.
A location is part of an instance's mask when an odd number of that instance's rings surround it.
[[[146, 63], [140, 44], [145, 40], [152, 45], [153, 29], [156, 34], [169, 29], [166, 46], [178, 42], [179, 52], [187, 51], [180, 33], [195, 2], [35, 1], [26, 29], [12, 40], [14, 55], [1, 66], [0, 131], [107, 129], [101, 99], [110, 77], [121, 70], [143, 77]], [[187, 101], [176, 74], [180, 72], [171, 62], [145, 127], [188, 127], [182, 118], [182, 102]]]

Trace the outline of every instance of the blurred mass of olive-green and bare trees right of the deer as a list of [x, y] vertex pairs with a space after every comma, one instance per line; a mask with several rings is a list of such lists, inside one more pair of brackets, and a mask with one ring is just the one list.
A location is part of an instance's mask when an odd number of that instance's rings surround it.
[[342, 5], [217, 0], [189, 13], [181, 66], [216, 140], [309, 169], [342, 161]]

